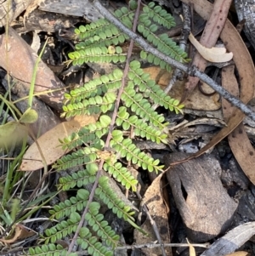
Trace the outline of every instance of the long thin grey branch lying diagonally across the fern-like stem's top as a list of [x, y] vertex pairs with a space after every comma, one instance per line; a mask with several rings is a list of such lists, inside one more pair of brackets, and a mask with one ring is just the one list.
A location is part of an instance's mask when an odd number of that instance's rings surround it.
[[231, 104], [235, 105], [242, 112], [246, 114], [246, 116], [250, 117], [253, 121], [255, 121], [255, 113], [246, 106], [241, 100], [238, 100], [232, 94], [229, 94], [227, 90], [218, 85], [217, 82], [214, 82], [211, 77], [208, 77], [204, 72], [197, 70], [195, 66], [189, 67], [188, 65], [184, 65], [179, 63], [177, 60], [173, 60], [171, 57], [162, 54], [156, 48], [150, 46], [149, 43], [146, 43], [144, 38], [139, 37], [133, 31], [130, 31], [126, 26], [122, 24], [119, 20], [116, 19], [114, 15], [112, 15], [105, 7], [99, 2], [99, 0], [94, 0], [94, 7], [99, 10], [99, 13], [102, 14], [107, 20], [111, 21], [112, 24], [117, 26], [120, 30], [127, 34], [128, 37], [132, 38], [134, 42], [139, 43], [139, 45], [144, 48], [146, 52], [156, 55], [161, 60], [164, 60], [169, 65], [173, 65], [181, 71], [189, 74], [193, 77], [199, 77], [201, 81], [206, 82], [210, 87], [212, 87], [215, 91], [218, 92], [224, 99], [228, 100]]

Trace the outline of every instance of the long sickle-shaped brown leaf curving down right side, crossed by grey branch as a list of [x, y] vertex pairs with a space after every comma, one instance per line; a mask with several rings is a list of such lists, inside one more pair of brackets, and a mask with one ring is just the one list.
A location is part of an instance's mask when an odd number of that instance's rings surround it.
[[[201, 15], [205, 20], [209, 19], [212, 12], [212, 4], [202, 1], [202, 0], [182, 0], [184, 3], [194, 3], [195, 11]], [[252, 100], [254, 94], [254, 79], [255, 71], [253, 67], [253, 62], [251, 55], [249, 54], [245, 43], [243, 43], [240, 34], [235, 30], [235, 27], [230, 23], [229, 20], [226, 20], [223, 31], [220, 34], [221, 39], [224, 42], [224, 45], [234, 54], [234, 61], [237, 71], [240, 76], [241, 83], [241, 93], [240, 100], [245, 104]], [[190, 160], [194, 157], [201, 156], [207, 150], [211, 149], [214, 145], [217, 145], [219, 141], [228, 136], [244, 119], [245, 115], [240, 110], [236, 110], [235, 113], [229, 118], [227, 122], [227, 127], [222, 128], [221, 131], [212, 138], [210, 143], [204, 146], [201, 151], [196, 152], [191, 155], [188, 159], [184, 159], [184, 162]], [[174, 162], [172, 165], [179, 162]]]

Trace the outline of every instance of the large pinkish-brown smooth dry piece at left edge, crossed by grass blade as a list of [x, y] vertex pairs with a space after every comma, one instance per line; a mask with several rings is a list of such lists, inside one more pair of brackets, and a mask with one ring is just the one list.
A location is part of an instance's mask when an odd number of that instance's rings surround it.
[[[21, 2], [23, 3], [28, 1]], [[0, 41], [0, 52], [2, 53], [0, 66], [5, 70], [8, 70], [13, 77], [22, 82], [27, 90], [29, 90], [35, 62], [38, 58], [37, 54], [32, 51], [26, 41], [20, 37], [11, 26], [8, 28], [8, 37], [6, 34], [0, 35]], [[6, 50], [6, 45], [8, 45], [8, 50]], [[50, 94], [41, 94], [39, 98], [55, 110], [62, 111], [65, 84], [54, 75], [54, 72], [51, 71], [45, 63], [40, 61], [37, 68], [35, 93], [54, 90], [57, 88], [62, 89]]]

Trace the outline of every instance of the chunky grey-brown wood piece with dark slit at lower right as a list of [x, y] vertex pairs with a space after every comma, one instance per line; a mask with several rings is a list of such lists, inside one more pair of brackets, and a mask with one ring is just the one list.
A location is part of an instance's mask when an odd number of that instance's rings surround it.
[[[177, 152], [164, 157], [166, 167], [187, 157]], [[225, 191], [213, 156], [200, 156], [167, 172], [174, 201], [193, 242], [207, 242], [229, 228], [237, 204]]]

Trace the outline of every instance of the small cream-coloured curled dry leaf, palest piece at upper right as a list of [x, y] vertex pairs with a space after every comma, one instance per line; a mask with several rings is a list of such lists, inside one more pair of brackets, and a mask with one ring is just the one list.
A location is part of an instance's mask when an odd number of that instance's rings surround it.
[[226, 62], [232, 60], [233, 53], [226, 53], [226, 48], [206, 48], [199, 43], [195, 37], [190, 33], [189, 36], [190, 42], [195, 46], [197, 51], [201, 54], [201, 56], [208, 61], [211, 62]]

